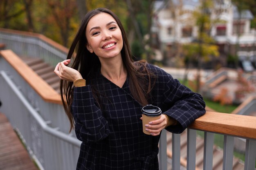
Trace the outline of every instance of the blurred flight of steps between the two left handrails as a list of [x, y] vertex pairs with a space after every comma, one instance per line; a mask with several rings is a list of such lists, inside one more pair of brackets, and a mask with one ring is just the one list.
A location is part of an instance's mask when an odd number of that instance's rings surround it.
[[60, 78], [54, 73], [54, 68], [39, 58], [20, 56], [45, 82], [59, 93]]

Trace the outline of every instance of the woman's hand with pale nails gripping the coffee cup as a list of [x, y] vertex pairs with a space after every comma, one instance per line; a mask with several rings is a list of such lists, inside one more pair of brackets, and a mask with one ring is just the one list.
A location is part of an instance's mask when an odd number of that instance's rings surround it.
[[167, 125], [167, 118], [165, 115], [161, 115], [159, 119], [150, 121], [145, 126], [146, 126], [146, 131], [150, 132], [152, 136], [157, 136], [157, 135], [160, 135], [161, 130], [163, 130], [166, 127], [166, 125]]

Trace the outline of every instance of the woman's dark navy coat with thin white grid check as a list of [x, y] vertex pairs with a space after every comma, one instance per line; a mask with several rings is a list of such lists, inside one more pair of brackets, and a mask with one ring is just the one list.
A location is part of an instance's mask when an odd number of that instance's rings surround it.
[[[150, 101], [179, 123], [166, 130], [181, 133], [205, 113], [202, 96], [177, 79], [148, 64], [157, 76]], [[128, 77], [129, 78], [129, 77]], [[127, 78], [127, 79], [128, 79]], [[86, 86], [74, 88], [72, 112], [76, 137], [82, 141], [76, 170], [158, 170], [159, 136], [142, 130], [141, 106], [131, 95], [128, 81], [122, 88], [95, 73]], [[99, 91], [98, 106], [92, 85]], [[101, 109], [100, 109], [101, 108]]]

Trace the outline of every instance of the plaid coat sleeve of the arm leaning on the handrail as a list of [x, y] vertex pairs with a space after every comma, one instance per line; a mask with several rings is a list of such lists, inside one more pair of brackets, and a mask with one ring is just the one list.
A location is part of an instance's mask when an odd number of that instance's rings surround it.
[[204, 115], [205, 102], [200, 94], [194, 93], [163, 70], [160, 72], [158, 81], [162, 84], [159, 87], [163, 89], [162, 112], [178, 122], [177, 125], [166, 127], [166, 130], [181, 133], [195, 119]]

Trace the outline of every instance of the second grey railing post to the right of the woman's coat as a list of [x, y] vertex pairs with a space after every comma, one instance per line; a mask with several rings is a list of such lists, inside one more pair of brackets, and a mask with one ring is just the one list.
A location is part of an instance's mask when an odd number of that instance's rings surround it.
[[172, 170], [180, 170], [180, 134], [172, 134]]

